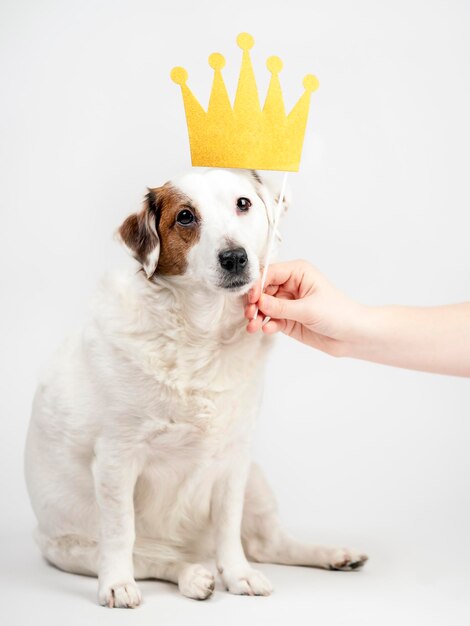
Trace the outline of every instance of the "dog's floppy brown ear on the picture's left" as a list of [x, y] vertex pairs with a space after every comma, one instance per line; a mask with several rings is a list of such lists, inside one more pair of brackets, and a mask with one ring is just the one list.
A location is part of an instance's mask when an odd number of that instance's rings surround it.
[[132, 256], [142, 264], [147, 278], [155, 273], [160, 256], [160, 237], [157, 224], [160, 220], [159, 188], [149, 189], [140, 213], [129, 215], [121, 224], [118, 235]]

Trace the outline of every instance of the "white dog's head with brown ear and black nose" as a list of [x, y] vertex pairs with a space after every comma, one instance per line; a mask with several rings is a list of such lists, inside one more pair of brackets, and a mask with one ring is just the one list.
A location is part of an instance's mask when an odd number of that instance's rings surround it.
[[150, 189], [119, 235], [148, 278], [244, 293], [259, 278], [275, 194], [253, 170], [191, 171]]

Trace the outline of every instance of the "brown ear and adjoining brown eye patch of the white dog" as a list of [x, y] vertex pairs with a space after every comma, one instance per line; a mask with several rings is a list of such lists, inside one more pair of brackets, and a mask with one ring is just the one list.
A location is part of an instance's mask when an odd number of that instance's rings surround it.
[[119, 235], [148, 278], [155, 272], [184, 274], [188, 252], [200, 237], [200, 215], [185, 194], [165, 183], [149, 189], [143, 210], [124, 221]]

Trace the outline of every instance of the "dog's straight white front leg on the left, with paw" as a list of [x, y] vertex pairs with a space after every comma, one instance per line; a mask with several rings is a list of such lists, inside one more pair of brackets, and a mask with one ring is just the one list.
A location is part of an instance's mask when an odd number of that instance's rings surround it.
[[139, 463], [109, 439], [98, 442], [95, 455], [93, 476], [101, 526], [98, 599], [109, 607], [133, 608], [141, 600], [132, 559]]

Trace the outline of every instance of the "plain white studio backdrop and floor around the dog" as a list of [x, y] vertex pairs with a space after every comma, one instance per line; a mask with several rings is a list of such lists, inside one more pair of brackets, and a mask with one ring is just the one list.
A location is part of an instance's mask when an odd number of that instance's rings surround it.
[[[335, 360], [281, 338], [256, 457], [291, 529], [367, 551], [360, 573], [265, 566], [270, 598], [182, 598], [143, 584], [137, 611], [40, 558], [22, 475], [40, 364], [80, 323], [112, 233], [146, 186], [189, 167], [174, 65], [205, 105], [207, 56], [255, 36], [284, 60], [290, 108], [315, 73], [283, 258], [370, 304], [470, 298], [468, 2], [145, 0], [0, 4], [1, 571], [5, 624], [468, 624], [470, 388]], [[286, 428], [286, 424], [289, 427]]]

